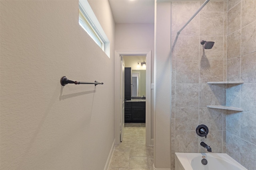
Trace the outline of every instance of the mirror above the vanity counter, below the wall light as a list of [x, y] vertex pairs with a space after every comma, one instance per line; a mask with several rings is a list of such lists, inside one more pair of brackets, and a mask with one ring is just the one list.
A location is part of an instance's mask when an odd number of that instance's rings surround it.
[[146, 97], [146, 70], [132, 70], [132, 97]]

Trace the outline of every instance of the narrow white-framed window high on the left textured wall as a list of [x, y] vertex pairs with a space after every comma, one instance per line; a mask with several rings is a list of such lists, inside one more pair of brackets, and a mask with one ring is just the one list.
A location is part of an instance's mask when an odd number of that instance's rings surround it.
[[110, 43], [87, 0], [79, 0], [79, 25], [110, 58]]

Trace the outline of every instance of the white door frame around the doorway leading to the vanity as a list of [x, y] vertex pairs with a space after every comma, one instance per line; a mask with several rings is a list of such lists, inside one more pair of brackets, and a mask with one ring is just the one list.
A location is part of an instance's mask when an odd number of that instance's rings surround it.
[[146, 55], [146, 145], [151, 145], [151, 51], [115, 51], [115, 143], [120, 143], [120, 55]]

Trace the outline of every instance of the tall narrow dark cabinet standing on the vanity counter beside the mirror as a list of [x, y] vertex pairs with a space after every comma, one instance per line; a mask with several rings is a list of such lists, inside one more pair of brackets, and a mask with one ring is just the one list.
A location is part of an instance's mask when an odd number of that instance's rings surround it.
[[132, 95], [132, 68], [124, 68], [124, 100], [131, 100]]

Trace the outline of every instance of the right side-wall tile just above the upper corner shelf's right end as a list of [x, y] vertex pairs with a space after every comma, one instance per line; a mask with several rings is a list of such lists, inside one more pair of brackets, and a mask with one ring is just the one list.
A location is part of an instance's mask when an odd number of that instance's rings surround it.
[[241, 80], [241, 57], [235, 57], [227, 60], [227, 80], [240, 81]]

